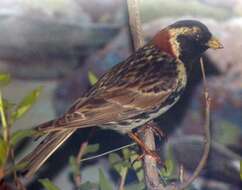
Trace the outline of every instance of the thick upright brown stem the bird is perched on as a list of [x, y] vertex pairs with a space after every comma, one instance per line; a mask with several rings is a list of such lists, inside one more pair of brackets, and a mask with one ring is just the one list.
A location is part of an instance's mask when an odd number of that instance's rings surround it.
[[[135, 49], [142, 47], [144, 45], [144, 38], [142, 33], [140, 13], [139, 13], [139, 3], [138, 0], [127, 0], [128, 11], [129, 11], [129, 25], [131, 28], [132, 39]], [[144, 132], [143, 141], [147, 148], [150, 150], [155, 150], [155, 138], [154, 133], [151, 129], [147, 128]], [[160, 183], [159, 174], [157, 171], [157, 163], [155, 158], [145, 155], [144, 156], [144, 171], [145, 171], [145, 181], [146, 186], [150, 190], [162, 190], [164, 186]]]

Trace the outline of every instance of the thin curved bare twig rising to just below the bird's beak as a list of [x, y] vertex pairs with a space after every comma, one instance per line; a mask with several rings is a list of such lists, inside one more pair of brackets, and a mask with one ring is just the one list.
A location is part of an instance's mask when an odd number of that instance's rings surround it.
[[202, 77], [203, 77], [203, 84], [204, 84], [204, 99], [205, 99], [205, 124], [204, 124], [204, 151], [202, 158], [193, 172], [192, 176], [189, 177], [187, 181], [185, 181], [183, 184], [181, 184], [177, 189], [182, 190], [186, 189], [201, 173], [202, 169], [207, 163], [209, 151], [210, 151], [210, 145], [211, 145], [211, 134], [210, 134], [210, 104], [211, 99], [208, 95], [208, 88], [207, 88], [207, 81], [206, 81], [206, 75], [204, 71], [204, 65], [203, 65], [203, 59], [200, 59], [201, 64], [201, 70], [202, 70]]

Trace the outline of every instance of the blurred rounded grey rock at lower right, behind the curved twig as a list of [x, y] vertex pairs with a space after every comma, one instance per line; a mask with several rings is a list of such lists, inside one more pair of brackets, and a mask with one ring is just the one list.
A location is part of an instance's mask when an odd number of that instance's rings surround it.
[[[172, 159], [178, 165], [192, 173], [202, 157], [204, 141], [202, 136], [173, 136], [165, 145], [166, 152], [172, 155]], [[187, 154], [184, 154], [187, 153]], [[241, 156], [235, 154], [227, 147], [213, 142], [209, 160], [202, 170], [202, 175], [207, 180], [215, 180], [237, 187], [241, 185], [239, 176], [239, 162]]]

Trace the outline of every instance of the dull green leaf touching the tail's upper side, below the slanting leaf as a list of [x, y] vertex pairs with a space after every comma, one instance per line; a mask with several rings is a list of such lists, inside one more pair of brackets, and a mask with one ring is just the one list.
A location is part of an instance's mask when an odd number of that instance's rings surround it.
[[32, 137], [34, 135], [38, 134], [38, 132], [34, 129], [25, 129], [25, 130], [18, 130], [15, 131], [11, 135], [10, 143], [15, 146], [17, 145], [22, 139], [26, 137]]

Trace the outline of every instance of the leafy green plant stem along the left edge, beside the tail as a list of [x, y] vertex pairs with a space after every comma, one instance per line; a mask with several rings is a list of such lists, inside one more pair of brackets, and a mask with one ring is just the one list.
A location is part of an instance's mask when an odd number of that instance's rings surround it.
[[30, 92], [20, 103], [14, 104], [2, 96], [2, 88], [8, 85], [10, 81], [11, 78], [8, 74], [0, 73], [0, 120], [2, 127], [0, 134], [0, 181], [3, 182], [1, 185], [4, 185], [5, 178], [11, 176], [14, 186], [18, 190], [25, 190], [16, 172], [24, 166], [15, 164], [14, 150], [22, 139], [34, 136], [37, 132], [34, 130], [16, 130], [12, 132], [12, 128], [14, 123], [22, 118], [36, 102], [42, 87]]

